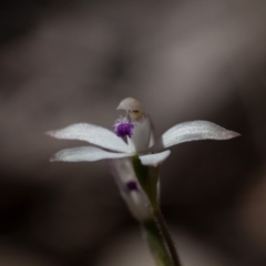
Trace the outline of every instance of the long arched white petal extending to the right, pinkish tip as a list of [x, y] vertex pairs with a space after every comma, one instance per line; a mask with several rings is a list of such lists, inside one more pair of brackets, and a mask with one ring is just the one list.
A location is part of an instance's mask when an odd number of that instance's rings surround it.
[[177, 124], [167, 130], [151, 150], [161, 150], [182, 142], [198, 140], [228, 140], [239, 134], [228, 131], [208, 121], [191, 121]]

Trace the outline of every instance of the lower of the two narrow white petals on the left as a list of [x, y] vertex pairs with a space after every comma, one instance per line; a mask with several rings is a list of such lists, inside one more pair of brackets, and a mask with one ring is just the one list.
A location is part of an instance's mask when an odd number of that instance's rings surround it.
[[132, 156], [129, 153], [112, 153], [94, 146], [64, 149], [52, 155], [51, 162], [94, 162], [103, 158]]

